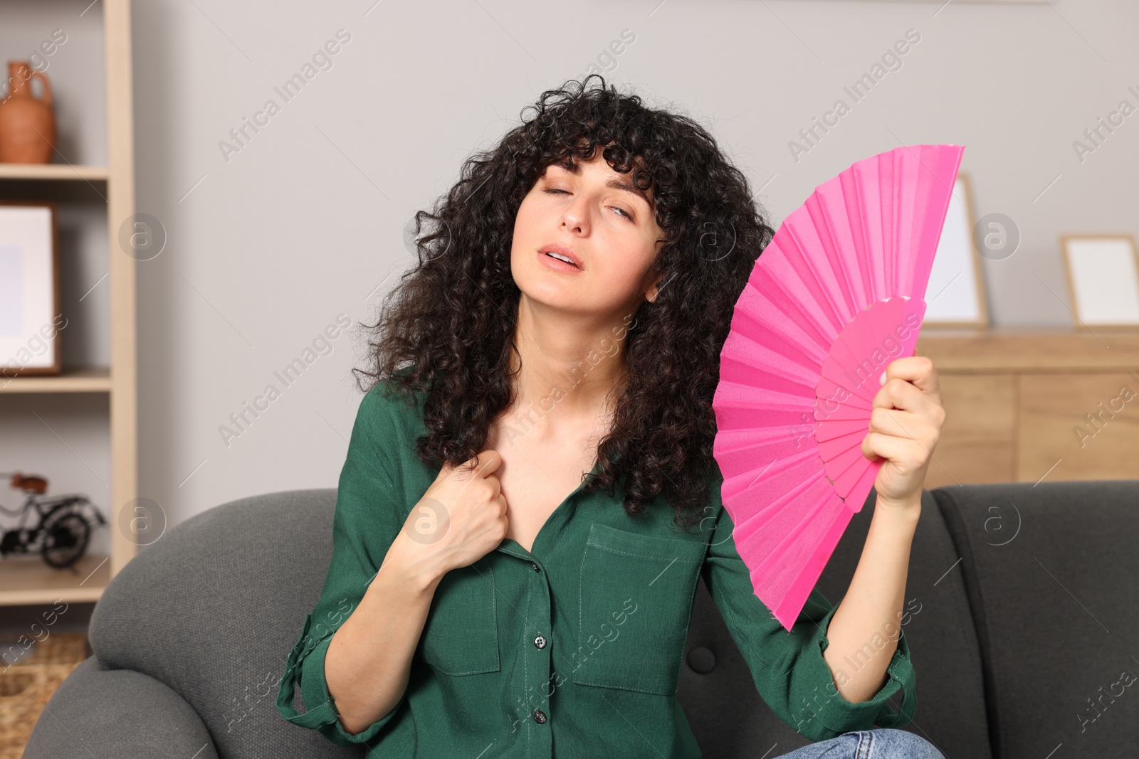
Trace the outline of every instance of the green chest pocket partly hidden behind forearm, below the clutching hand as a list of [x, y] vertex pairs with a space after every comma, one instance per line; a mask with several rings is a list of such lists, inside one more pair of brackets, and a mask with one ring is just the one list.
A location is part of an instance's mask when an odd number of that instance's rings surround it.
[[482, 561], [443, 575], [424, 624], [424, 661], [452, 676], [499, 671], [495, 596]]

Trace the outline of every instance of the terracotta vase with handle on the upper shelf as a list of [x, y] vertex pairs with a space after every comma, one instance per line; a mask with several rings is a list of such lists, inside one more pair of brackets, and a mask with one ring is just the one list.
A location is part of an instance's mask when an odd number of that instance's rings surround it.
[[[43, 84], [43, 97], [32, 94], [32, 80]], [[26, 60], [8, 61], [8, 97], [0, 100], [0, 163], [46, 164], [56, 147], [51, 84]]]

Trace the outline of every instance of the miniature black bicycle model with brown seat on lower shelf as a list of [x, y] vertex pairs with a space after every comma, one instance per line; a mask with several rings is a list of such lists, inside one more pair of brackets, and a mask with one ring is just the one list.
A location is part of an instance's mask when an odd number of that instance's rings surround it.
[[[0, 505], [0, 512], [19, 514], [19, 526], [5, 530], [0, 537], [0, 556], [39, 551], [43, 554], [43, 561], [60, 569], [79, 561], [87, 552], [91, 530], [107, 523], [95, 504], [82, 494], [44, 495], [48, 492], [48, 480], [42, 477], [0, 472], [0, 477], [9, 476], [11, 487], [22, 489], [27, 498], [19, 509]], [[33, 510], [39, 514], [40, 522], [34, 527], [25, 527]]]

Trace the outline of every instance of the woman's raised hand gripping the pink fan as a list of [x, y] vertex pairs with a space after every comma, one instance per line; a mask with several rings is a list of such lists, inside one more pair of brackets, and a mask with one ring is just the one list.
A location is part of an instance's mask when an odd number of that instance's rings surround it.
[[878, 504], [920, 508], [921, 484], [945, 422], [937, 371], [928, 357], [910, 356], [891, 362], [885, 373], [886, 382], [874, 396], [862, 454], [886, 460], [874, 482]]

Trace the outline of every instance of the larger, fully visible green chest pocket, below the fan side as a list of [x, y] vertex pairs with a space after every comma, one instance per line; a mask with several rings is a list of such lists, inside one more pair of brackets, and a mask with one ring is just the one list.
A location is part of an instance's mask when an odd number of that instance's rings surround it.
[[592, 525], [581, 562], [571, 679], [675, 693], [706, 551], [704, 542]]

